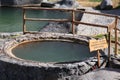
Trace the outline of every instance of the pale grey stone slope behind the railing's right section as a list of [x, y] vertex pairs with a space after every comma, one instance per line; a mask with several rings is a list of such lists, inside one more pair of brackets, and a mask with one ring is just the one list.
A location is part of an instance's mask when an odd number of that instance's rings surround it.
[[[95, 10], [90, 7], [85, 7], [85, 9], [86, 11], [89, 11], [89, 12], [107, 13], [107, 14], [114, 14], [114, 15], [120, 16], [120, 9]], [[81, 22], [93, 23], [93, 24], [99, 24], [99, 25], [108, 25], [113, 20], [115, 19], [112, 17], [105, 17], [105, 16], [100, 16], [100, 15], [92, 15], [92, 14], [85, 13], [81, 19]], [[118, 28], [120, 28], [120, 20], [118, 22]], [[77, 27], [77, 34], [80, 34], [80, 35], [98, 35], [98, 34], [105, 34], [105, 33], [107, 33], [107, 29], [105, 28], [90, 27], [90, 26], [81, 25], [81, 24], [79, 24]]]

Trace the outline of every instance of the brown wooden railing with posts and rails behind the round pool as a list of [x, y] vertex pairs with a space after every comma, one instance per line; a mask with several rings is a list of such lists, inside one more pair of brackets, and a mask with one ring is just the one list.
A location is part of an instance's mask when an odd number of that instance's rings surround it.
[[[26, 10], [54, 10], [54, 11], [64, 11], [64, 12], [71, 12], [72, 20], [68, 19], [44, 19], [44, 18], [27, 18], [26, 17]], [[93, 23], [86, 23], [86, 22], [81, 22], [81, 21], [76, 21], [75, 20], [75, 13], [80, 12], [80, 13], [86, 13], [86, 14], [92, 14], [92, 15], [101, 15], [101, 16], [106, 16], [106, 17], [112, 17], [115, 19], [115, 40], [111, 41], [111, 32], [108, 32], [109, 34], [109, 46], [111, 46], [111, 42], [115, 43], [115, 55], [118, 54], [118, 46], [120, 46], [120, 42], [118, 41], [118, 32], [120, 32], [120, 29], [118, 28], [118, 20], [120, 20], [120, 17], [116, 15], [111, 15], [111, 14], [104, 14], [104, 13], [95, 13], [95, 12], [87, 12], [83, 10], [76, 10], [76, 9], [58, 9], [58, 8], [41, 8], [41, 7], [23, 7], [23, 33], [31, 33], [31, 31], [26, 30], [26, 21], [52, 21], [52, 22], [71, 22], [72, 23], [72, 34], [75, 34], [75, 26], [74, 24], [83, 24], [83, 25], [88, 25], [90, 27], [101, 27], [101, 28], [107, 28], [109, 29], [108, 25], [100, 25], [100, 24], [93, 24]], [[110, 48], [109, 48], [109, 53], [110, 53]]]

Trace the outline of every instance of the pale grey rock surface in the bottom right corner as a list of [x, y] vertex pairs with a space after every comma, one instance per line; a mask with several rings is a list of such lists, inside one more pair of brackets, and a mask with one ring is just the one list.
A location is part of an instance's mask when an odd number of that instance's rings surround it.
[[99, 69], [87, 73], [79, 80], [120, 80], [120, 69]]

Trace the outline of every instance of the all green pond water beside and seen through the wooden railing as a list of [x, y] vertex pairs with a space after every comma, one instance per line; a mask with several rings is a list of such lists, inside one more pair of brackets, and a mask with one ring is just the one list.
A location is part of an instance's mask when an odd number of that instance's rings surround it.
[[[69, 18], [70, 14], [60, 11], [45, 11], [45, 10], [28, 10], [27, 17], [34, 18]], [[48, 22], [27, 21], [27, 29], [32, 31], [40, 30]], [[21, 8], [0, 8], [0, 32], [17, 32], [22, 31], [22, 9]]]

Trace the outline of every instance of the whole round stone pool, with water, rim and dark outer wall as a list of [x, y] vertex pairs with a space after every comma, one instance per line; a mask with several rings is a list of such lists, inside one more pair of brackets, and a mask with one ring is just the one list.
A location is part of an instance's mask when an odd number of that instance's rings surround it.
[[[14, 36], [1, 47], [2, 73], [10, 75], [7, 78], [12, 77], [11, 80], [20, 75], [21, 80], [76, 80], [97, 64], [96, 52], [90, 53], [88, 49], [90, 39], [61, 33]], [[101, 57], [100, 64], [103, 62]]]

